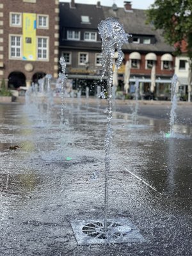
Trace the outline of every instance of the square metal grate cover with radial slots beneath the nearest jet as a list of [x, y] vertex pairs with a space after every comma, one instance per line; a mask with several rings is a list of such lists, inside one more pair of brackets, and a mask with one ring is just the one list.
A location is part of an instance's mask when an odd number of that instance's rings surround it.
[[109, 219], [106, 232], [104, 220], [74, 220], [70, 223], [79, 245], [145, 242], [139, 230], [126, 218]]

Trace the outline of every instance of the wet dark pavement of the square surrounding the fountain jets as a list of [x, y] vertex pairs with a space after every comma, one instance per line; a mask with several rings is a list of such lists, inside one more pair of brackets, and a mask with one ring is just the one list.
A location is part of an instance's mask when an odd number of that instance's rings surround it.
[[[104, 100], [0, 105], [0, 255], [191, 255], [192, 106], [115, 104], [109, 218], [145, 241], [78, 245], [72, 221], [104, 217]], [[183, 114], [183, 115], [182, 115]], [[16, 149], [10, 147], [18, 146]]]

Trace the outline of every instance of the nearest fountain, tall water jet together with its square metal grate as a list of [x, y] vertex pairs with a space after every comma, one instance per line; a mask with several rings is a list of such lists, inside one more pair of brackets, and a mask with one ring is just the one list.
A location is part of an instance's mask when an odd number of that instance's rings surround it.
[[[119, 68], [123, 59], [122, 45], [128, 42], [128, 34], [116, 19], [102, 20], [98, 26], [102, 38], [102, 78], [106, 74], [107, 92], [102, 92], [102, 98], [108, 100], [107, 131], [105, 136], [105, 194], [104, 220], [74, 220], [71, 221], [78, 244], [125, 243], [145, 241], [137, 228], [126, 218], [108, 220], [108, 182], [110, 173], [110, 152], [112, 139], [112, 86], [113, 86], [113, 56], [118, 51], [116, 65]], [[80, 232], [81, 230], [81, 232]]]

